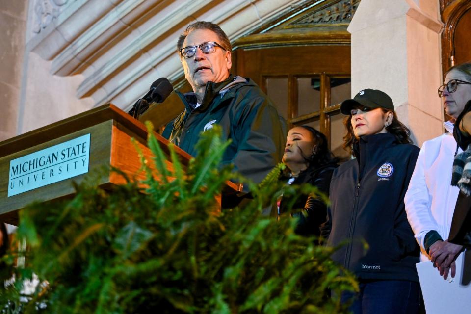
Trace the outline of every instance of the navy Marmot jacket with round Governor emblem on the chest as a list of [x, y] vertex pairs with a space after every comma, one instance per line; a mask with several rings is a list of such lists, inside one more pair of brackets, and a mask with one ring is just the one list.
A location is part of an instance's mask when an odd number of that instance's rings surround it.
[[355, 151], [357, 158], [337, 168], [330, 184], [331, 208], [321, 235], [330, 246], [345, 244], [332, 259], [360, 279], [418, 282], [419, 246], [404, 195], [419, 148], [381, 133], [361, 137]]

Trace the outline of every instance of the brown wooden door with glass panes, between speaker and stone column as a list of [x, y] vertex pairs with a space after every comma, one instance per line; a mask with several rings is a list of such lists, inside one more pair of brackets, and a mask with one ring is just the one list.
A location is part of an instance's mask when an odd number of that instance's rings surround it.
[[288, 128], [310, 125], [326, 135], [336, 156], [349, 158], [341, 147], [340, 113], [340, 103], [351, 96], [349, 45], [239, 49], [235, 57], [234, 73], [261, 86]]

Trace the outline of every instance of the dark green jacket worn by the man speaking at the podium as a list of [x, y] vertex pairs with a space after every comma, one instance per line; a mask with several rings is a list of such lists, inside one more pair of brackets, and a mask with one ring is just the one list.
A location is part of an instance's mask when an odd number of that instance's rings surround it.
[[[223, 139], [231, 139], [222, 164], [260, 183], [281, 161], [286, 142], [286, 124], [276, 108], [251, 80], [229, 77], [220, 83], [208, 82], [202, 104], [194, 109], [194, 93], [178, 93], [185, 110], [170, 122], [163, 136], [190, 155], [201, 132], [222, 127]], [[244, 191], [247, 188], [244, 187]]]

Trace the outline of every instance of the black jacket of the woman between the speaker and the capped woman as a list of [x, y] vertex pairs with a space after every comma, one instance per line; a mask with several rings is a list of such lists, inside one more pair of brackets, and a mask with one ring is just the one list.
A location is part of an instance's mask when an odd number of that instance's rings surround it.
[[[329, 196], [330, 180], [332, 174], [339, 165], [336, 162], [330, 162], [320, 167], [311, 165], [308, 169], [301, 172], [294, 179], [292, 185], [301, 185], [309, 183], [317, 187], [318, 191]], [[280, 214], [288, 212], [288, 199], [284, 196], [280, 202]], [[297, 210], [296, 210], [297, 209]], [[320, 225], [323, 224], [327, 216], [327, 204], [315, 195], [300, 195], [291, 208], [293, 217], [298, 219], [296, 233], [298, 235], [320, 235]]]

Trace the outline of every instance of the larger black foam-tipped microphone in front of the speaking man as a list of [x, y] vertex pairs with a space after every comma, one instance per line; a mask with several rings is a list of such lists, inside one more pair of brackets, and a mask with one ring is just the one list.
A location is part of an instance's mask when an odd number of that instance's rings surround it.
[[139, 98], [128, 114], [137, 119], [147, 109], [149, 104], [162, 103], [173, 91], [173, 86], [167, 78], [158, 78], [149, 88], [147, 94]]

